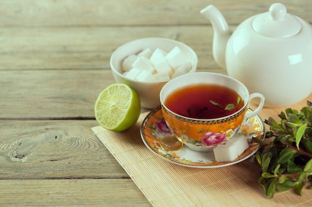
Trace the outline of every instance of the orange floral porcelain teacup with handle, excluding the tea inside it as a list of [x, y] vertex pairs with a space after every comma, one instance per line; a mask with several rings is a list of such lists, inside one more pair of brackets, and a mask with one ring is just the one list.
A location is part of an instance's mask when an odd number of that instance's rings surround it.
[[[173, 91], [186, 85], [207, 83], [227, 86], [235, 90], [243, 99], [241, 109], [230, 115], [214, 119], [196, 119], [177, 114], [165, 105], [165, 100]], [[241, 127], [244, 119], [256, 116], [264, 105], [264, 96], [260, 93], [249, 95], [246, 86], [227, 75], [212, 72], [188, 73], [168, 81], [160, 91], [162, 113], [171, 132], [190, 149], [210, 151], [218, 144], [232, 138]], [[257, 109], [247, 113], [248, 103], [253, 98], [260, 98]]]

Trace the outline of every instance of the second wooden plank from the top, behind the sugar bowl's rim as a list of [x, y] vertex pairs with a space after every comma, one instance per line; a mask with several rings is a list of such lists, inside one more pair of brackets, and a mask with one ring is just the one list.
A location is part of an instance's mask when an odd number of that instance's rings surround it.
[[144, 37], [184, 42], [197, 54], [198, 68], [218, 68], [212, 58], [212, 35], [211, 26], [5, 28], [0, 35], [0, 70], [110, 69], [110, 57], [119, 46]]

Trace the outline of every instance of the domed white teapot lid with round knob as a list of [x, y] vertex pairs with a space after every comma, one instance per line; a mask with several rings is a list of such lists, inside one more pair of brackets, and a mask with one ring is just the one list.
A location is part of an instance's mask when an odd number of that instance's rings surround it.
[[274, 3], [269, 12], [258, 15], [252, 22], [252, 28], [266, 37], [292, 37], [302, 29], [302, 24], [293, 15], [287, 13], [282, 3]]

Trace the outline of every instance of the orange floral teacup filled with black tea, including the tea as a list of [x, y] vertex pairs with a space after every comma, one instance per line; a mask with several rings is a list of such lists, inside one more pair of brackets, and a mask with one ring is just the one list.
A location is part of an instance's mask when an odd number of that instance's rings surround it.
[[[261, 93], [249, 94], [240, 81], [213, 72], [175, 77], [162, 87], [159, 97], [172, 133], [196, 151], [211, 151], [227, 142], [245, 119], [261, 111], [265, 100]], [[258, 108], [246, 113], [254, 98], [260, 99]]]

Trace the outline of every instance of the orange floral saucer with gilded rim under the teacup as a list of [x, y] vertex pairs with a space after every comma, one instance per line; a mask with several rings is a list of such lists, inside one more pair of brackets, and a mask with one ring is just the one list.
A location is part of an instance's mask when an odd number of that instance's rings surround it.
[[[247, 113], [251, 111], [251, 109], [248, 109]], [[163, 150], [160, 147], [159, 140], [171, 135], [171, 132], [164, 121], [161, 106], [158, 106], [148, 114], [141, 127], [143, 142], [157, 156], [174, 164], [196, 168], [224, 167], [241, 162], [256, 153], [260, 145], [258, 143], [252, 143], [251, 138], [257, 137], [260, 140], [264, 139], [264, 126], [261, 118], [255, 116], [246, 119], [237, 133], [248, 138], [249, 148], [231, 162], [217, 162], [214, 158], [213, 151], [199, 152], [187, 146], [183, 146], [178, 151]]]

